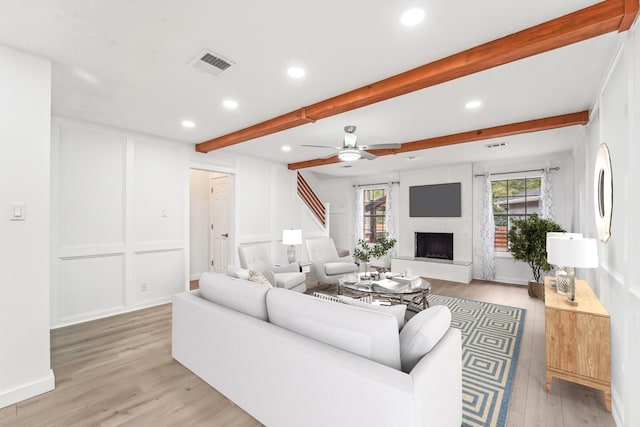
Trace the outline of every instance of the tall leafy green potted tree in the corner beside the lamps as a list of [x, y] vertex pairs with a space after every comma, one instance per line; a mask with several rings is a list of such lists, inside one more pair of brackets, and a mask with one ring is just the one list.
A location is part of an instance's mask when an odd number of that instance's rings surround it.
[[540, 274], [553, 266], [547, 262], [547, 233], [563, 232], [562, 227], [537, 214], [512, 221], [508, 232], [509, 252], [513, 259], [525, 261], [531, 267], [533, 280], [529, 281], [529, 296], [544, 299], [544, 284]]

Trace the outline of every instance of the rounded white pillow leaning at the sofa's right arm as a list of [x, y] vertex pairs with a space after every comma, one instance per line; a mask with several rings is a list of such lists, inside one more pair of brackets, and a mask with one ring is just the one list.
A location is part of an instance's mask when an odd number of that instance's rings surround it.
[[413, 316], [400, 331], [402, 370], [409, 373], [451, 326], [449, 307], [437, 305]]

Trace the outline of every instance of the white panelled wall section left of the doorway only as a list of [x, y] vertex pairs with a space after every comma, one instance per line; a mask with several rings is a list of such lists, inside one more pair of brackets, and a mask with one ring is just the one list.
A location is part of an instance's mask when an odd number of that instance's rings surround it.
[[189, 151], [54, 118], [53, 327], [168, 302], [185, 289]]

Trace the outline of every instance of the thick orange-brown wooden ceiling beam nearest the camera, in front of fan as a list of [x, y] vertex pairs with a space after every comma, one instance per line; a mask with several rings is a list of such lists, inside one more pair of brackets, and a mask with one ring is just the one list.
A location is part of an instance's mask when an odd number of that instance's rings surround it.
[[196, 144], [209, 152], [425, 89], [612, 31], [627, 30], [638, 0], [606, 0], [413, 70]]

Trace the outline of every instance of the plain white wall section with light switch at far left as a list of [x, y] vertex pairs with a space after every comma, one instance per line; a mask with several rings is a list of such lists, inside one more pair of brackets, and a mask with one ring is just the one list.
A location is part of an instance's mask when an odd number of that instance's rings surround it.
[[[54, 388], [49, 359], [51, 63], [0, 46], [0, 408]], [[26, 206], [9, 221], [9, 203]]]

